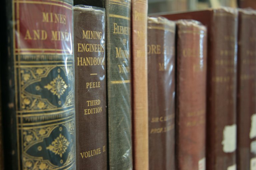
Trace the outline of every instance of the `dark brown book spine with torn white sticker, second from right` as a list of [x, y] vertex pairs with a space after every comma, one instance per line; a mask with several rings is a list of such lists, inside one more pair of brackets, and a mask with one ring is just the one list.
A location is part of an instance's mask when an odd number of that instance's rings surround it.
[[212, 11], [207, 65], [208, 170], [236, 169], [237, 10]]

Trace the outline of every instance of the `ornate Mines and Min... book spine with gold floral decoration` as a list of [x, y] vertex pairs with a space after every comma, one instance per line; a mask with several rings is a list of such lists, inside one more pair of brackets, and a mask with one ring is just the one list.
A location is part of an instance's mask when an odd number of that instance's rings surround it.
[[5, 2], [5, 168], [75, 169], [73, 1]]

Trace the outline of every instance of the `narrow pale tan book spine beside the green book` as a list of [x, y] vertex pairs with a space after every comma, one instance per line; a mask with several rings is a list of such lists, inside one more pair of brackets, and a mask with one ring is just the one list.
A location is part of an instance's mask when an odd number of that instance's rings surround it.
[[147, 0], [132, 0], [133, 167], [148, 169]]

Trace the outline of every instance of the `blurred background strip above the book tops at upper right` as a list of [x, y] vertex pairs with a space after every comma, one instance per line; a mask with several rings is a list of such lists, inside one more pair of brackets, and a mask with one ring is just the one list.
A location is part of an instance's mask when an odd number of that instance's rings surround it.
[[202, 10], [220, 6], [256, 9], [256, 0], [148, 0], [148, 13]]

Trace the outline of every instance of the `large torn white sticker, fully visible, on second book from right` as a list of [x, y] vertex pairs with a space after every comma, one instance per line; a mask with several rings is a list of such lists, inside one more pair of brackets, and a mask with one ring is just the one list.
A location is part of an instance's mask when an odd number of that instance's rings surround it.
[[236, 125], [225, 126], [223, 130], [223, 152], [230, 153], [236, 150]]

